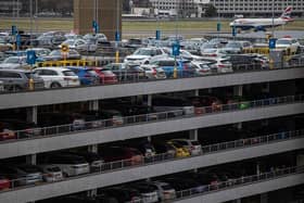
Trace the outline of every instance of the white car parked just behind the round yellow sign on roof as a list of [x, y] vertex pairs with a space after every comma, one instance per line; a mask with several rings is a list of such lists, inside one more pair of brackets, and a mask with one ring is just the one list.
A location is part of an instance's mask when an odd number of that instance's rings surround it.
[[63, 41], [59, 48], [62, 48], [63, 45], [68, 46], [69, 49], [76, 49], [78, 51], [96, 51], [97, 45], [96, 43], [89, 43], [88, 41], [84, 39], [67, 39]]

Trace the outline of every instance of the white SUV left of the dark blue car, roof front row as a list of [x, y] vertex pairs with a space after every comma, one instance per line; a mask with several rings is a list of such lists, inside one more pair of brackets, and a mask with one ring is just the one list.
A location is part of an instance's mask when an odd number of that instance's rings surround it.
[[39, 67], [34, 73], [43, 79], [46, 88], [80, 86], [78, 76], [65, 67]]

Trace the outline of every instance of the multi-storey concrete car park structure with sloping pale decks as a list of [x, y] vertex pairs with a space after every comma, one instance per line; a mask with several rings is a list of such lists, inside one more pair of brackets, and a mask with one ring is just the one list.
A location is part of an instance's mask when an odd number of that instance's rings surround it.
[[[142, 115], [131, 116], [124, 118], [125, 122], [121, 125], [88, 125], [91, 127], [81, 129], [75, 129], [71, 125], [50, 126], [42, 128], [37, 137], [24, 138], [20, 136], [23, 130], [16, 131], [17, 139], [0, 141], [1, 163], [39, 165], [43, 154], [51, 155], [56, 151], [76, 148], [102, 153], [100, 145], [138, 138], [191, 138], [199, 140], [203, 150], [200, 154], [179, 158], [157, 154], [152, 160], [149, 158], [149, 162], [143, 161], [136, 165], [126, 164], [124, 161], [105, 163], [94, 173], [66, 177], [55, 182], [17, 186], [14, 185], [16, 181], [12, 181], [10, 189], [0, 191], [0, 202], [43, 202], [47, 199], [52, 201], [53, 198], [78, 192], [93, 195], [99, 188], [128, 185], [144, 179], [162, 179], [166, 175], [188, 170], [229, 168], [249, 162], [254, 163], [254, 166], [251, 164], [252, 174], [216, 186], [207, 186], [200, 192], [193, 192], [191, 188], [177, 191], [176, 199], [172, 201], [292, 202], [295, 198], [292, 192], [304, 183], [301, 160], [296, 161], [296, 157], [301, 157], [304, 147], [301, 129], [304, 113], [303, 76], [303, 67], [290, 67], [0, 94], [1, 113], [20, 112], [27, 120], [34, 123], [37, 123], [43, 111], [98, 110], [110, 99], [115, 101], [130, 98], [131, 101], [143, 101], [151, 105], [153, 97], [160, 93], [186, 97], [230, 91], [235, 96], [246, 94], [252, 98], [250, 105], [244, 109], [228, 104], [219, 105], [216, 110], [201, 107], [201, 111], [187, 115], [164, 112], [156, 114], [156, 118], [153, 119], [149, 119], [149, 115], [143, 116], [143, 119]], [[257, 98], [262, 92], [268, 97]], [[137, 119], [139, 117], [141, 119]], [[205, 130], [210, 128], [229, 125], [241, 129], [244, 126], [258, 125], [262, 129], [268, 129], [270, 124], [276, 126], [274, 131], [259, 131], [246, 139], [233, 138], [227, 142], [228, 134], [205, 137]], [[271, 164], [280, 167], [274, 170]]]

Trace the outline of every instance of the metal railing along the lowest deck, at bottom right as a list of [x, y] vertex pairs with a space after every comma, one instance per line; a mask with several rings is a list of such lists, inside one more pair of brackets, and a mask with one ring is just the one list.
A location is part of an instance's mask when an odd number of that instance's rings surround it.
[[197, 188], [190, 188], [188, 190], [181, 190], [176, 192], [176, 200], [190, 199], [198, 195], [204, 195], [211, 192], [217, 192], [220, 190], [227, 190], [236, 187], [242, 187], [244, 185], [253, 185], [256, 182], [268, 181], [271, 179], [277, 179], [284, 176], [303, 174], [304, 166], [293, 166], [286, 168], [278, 168], [274, 172], [261, 173], [258, 175], [245, 176], [236, 179], [231, 179], [228, 181], [220, 181], [213, 185], [205, 186], [204, 190], [199, 191]]

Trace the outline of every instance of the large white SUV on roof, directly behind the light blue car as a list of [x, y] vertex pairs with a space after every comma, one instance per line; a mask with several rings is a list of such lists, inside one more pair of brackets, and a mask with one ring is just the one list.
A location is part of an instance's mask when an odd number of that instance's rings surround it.
[[167, 53], [162, 48], [156, 47], [139, 48], [131, 55], [126, 56], [124, 62], [141, 65], [156, 55], [167, 55]]

